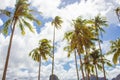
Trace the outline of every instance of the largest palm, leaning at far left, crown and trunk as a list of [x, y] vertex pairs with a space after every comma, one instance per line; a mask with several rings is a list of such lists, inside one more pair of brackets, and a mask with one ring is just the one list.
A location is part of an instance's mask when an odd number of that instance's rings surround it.
[[[30, 4], [28, 3], [27, 0], [18, 0], [15, 5], [15, 10], [14, 13], [12, 14], [10, 18], [4, 23], [4, 28], [3, 28], [3, 33], [8, 34], [8, 29], [13, 27], [11, 30], [11, 36], [10, 36], [10, 42], [8, 46], [8, 51], [7, 51], [7, 57], [6, 57], [6, 62], [5, 62], [5, 67], [3, 71], [3, 77], [2, 80], [6, 79], [6, 72], [7, 72], [7, 67], [8, 67], [8, 62], [9, 62], [9, 56], [10, 56], [10, 50], [11, 50], [11, 45], [12, 45], [12, 39], [14, 35], [14, 31], [16, 28], [16, 24], [19, 25], [21, 29], [21, 33], [24, 35], [25, 34], [25, 27], [29, 28], [31, 32], [34, 32], [31, 24], [27, 21], [35, 21], [38, 25], [40, 25], [40, 21], [37, 20], [31, 13], [33, 10], [29, 8]], [[27, 19], [27, 20], [26, 20]]]

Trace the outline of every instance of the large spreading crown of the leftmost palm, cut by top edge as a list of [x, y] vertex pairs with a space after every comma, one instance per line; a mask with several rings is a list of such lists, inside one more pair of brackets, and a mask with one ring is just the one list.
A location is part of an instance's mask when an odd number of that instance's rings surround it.
[[25, 34], [24, 26], [29, 28], [31, 32], [34, 32], [32, 25], [27, 20], [36, 22], [38, 25], [40, 25], [41, 22], [31, 14], [33, 10], [31, 10], [29, 6], [30, 4], [28, 3], [28, 0], [18, 0], [15, 5], [14, 13], [7, 10], [1, 10], [2, 13], [10, 16], [10, 18], [3, 25], [3, 34], [8, 34], [9, 27], [11, 27], [11, 24], [15, 21], [16, 24], [18, 24], [18, 26], [20, 27], [21, 33], [23, 35]]

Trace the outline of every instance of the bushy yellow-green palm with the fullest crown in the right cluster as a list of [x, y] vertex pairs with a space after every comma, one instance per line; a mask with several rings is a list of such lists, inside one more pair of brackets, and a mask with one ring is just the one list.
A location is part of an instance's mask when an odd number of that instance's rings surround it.
[[[94, 35], [87, 26], [87, 20], [82, 19], [81, 17], [73, 20], [73, 26], [75, 28], [73, 31], [65, 33], [65, 37], [70, 43], [68, 52], [70, 54], [72, 50], [77, 50], [80, 58], [80, 65], [82, 66], [81, 53], [84, 53], [87, 48], [90, 48], [90, 46], [93, 45], [92, 38], [94, 38]], [[83, 67], [81, 67], [81, 72], [83, 79], [85, 80]]]

